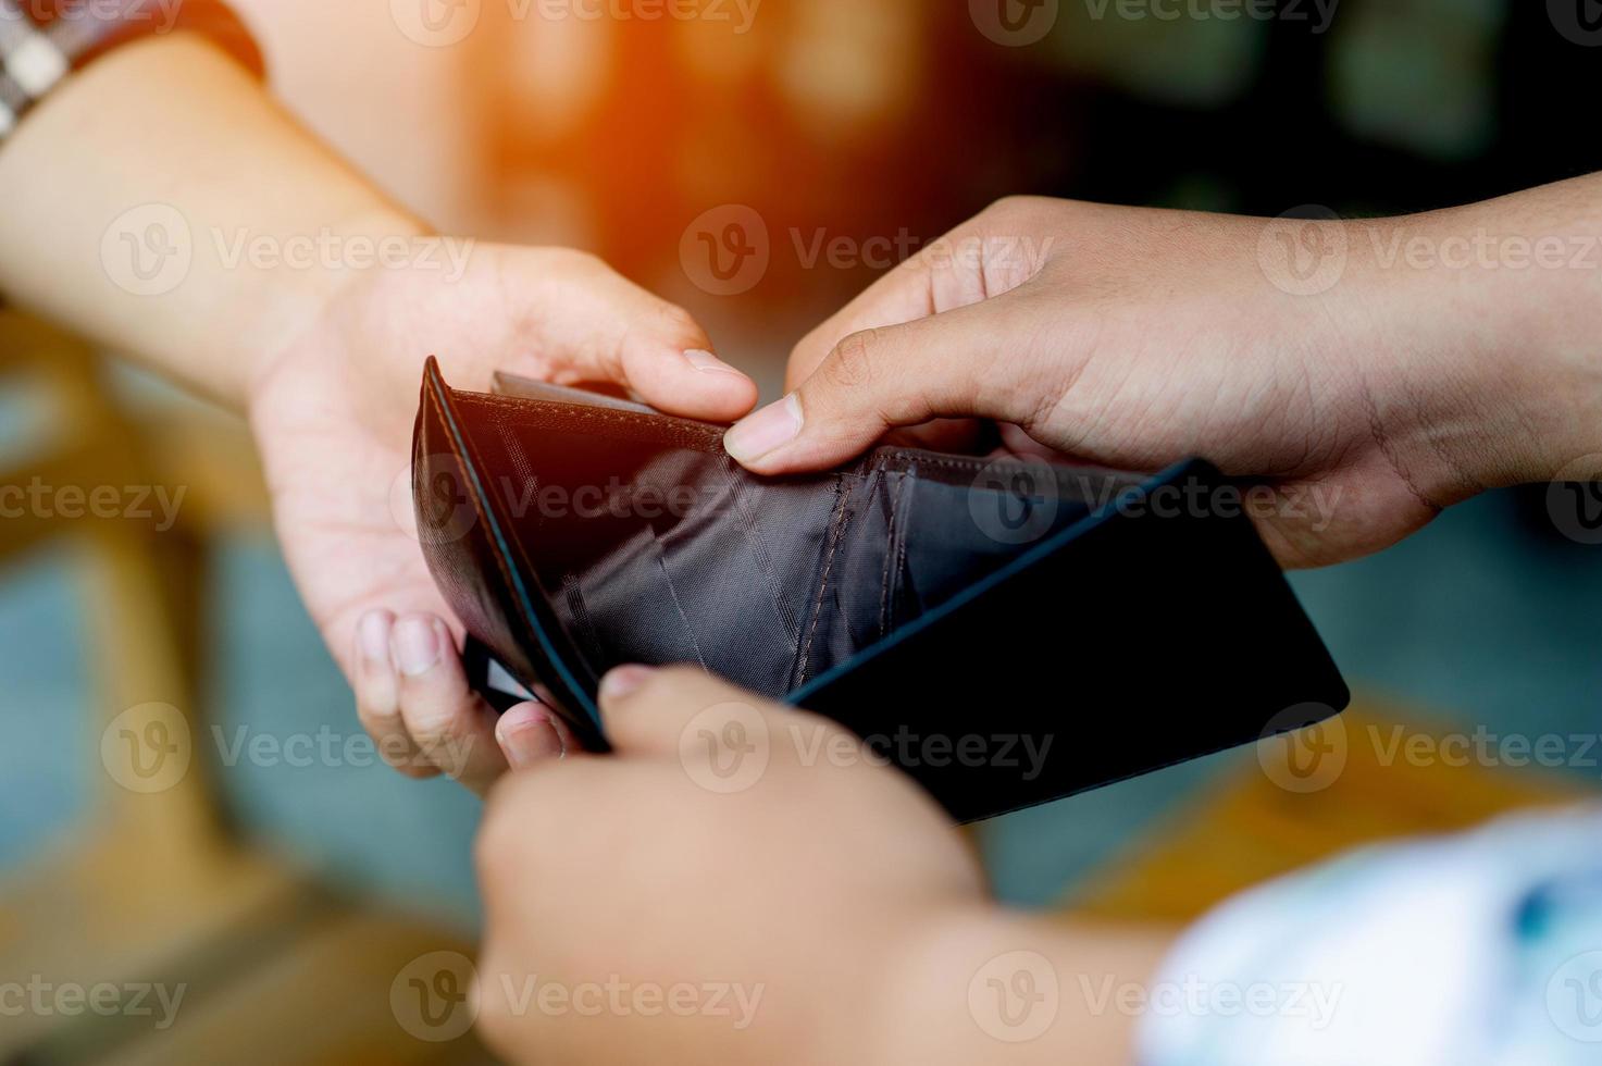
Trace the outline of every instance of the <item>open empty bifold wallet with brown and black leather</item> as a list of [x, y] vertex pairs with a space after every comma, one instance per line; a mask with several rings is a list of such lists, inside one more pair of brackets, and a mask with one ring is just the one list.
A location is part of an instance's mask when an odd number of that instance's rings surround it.
[[418, 539], [493, 705], [527, 689], [604, 752], [602, 673], [698, 664], [839, 721], [956, 821], [1346, 707], [1238, 486], [1205, 462], [886, 446], [766, 478], [723, 433], [505, 375], [458, 391], [428, 361]]

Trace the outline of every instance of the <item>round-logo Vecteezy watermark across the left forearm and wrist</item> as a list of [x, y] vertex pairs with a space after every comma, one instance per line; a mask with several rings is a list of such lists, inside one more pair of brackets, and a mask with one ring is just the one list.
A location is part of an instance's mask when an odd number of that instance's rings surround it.
[[436, 271], [461, 281], [474, 240], [441, 236], [316, 232], [268, 234], [213, 226], [197, 244], [189, 220], [171, 204], [128, 208], [101, 234], [101, 266], [135, 297], [163, 297], [189, 279], [195, 255], [208, 252], [224, 271]]

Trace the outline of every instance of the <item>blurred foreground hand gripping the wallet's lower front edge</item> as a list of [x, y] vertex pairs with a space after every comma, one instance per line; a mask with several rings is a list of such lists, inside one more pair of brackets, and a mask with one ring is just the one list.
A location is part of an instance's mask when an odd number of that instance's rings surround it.
[[513, 1061], [896, 1061], [873, 1042], [902, 967], [987, 911], [945, 816], [839, 726], [698, 670], [615, 670], [601, 709], [615, 755], [506, 777], [485, 816], [490, 1042]]

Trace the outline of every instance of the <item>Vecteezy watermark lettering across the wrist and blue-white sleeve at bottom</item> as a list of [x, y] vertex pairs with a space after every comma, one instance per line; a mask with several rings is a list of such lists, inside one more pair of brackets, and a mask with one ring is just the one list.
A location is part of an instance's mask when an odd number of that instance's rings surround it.
[[1078, 984], [1086, 1010], [1096, 1016], [1290, 1018], [1306, 1021], [1314, 1032], [1330, 1028], [1346, 991], [1320, 981], [1205, 981], [1197, 975], [1142, 984], [1081, 973]]

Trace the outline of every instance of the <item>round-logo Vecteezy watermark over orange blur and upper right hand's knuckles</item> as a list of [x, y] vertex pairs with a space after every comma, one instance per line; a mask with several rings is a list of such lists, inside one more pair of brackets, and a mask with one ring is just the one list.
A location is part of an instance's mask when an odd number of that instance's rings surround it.
[[795, 256], [812, 269], [888, 271], [900, 263], [928, 271], [1032, 274], [1051, 255], [1056, 237], [1030, 234], [950, 236], [932, 240], [899, 229], [894, 234], [857, 237], [827, 228], [791, 226], [787, 240], [774, 245], [767, 221], [745, 204], [723, 204], [697, 215], [679, 236], [679, 266], [692, 285], [713, 297], [737, 297], [755, 289], [772, 266], [774, 255]]

